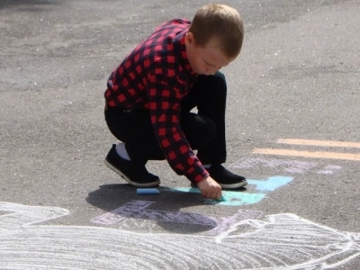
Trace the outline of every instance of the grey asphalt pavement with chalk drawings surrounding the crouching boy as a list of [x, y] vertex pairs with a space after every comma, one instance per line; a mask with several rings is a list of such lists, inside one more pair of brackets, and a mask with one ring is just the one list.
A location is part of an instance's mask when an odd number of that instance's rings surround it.
[[103, 165], [106, 80], [157, 24], [206, 1], [0, 0], [0, 269], [360, 267], [358, 0], [225, 1], [228, 159], [204, 200], [165, 161], [159, 194]]

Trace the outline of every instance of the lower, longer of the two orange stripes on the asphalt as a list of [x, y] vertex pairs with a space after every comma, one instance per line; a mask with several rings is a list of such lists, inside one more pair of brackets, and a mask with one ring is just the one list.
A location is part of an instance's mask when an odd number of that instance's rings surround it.
[[277, 156], [289, 156], [289, 157], [332, 158], [332, 159], [360, 161], [360, 154], [338, 153], [338, 152], [311, 152], [311, 151], [297, 151], [290, 149], [255, 148], [253, 150], [253, 154], [277, 155]]

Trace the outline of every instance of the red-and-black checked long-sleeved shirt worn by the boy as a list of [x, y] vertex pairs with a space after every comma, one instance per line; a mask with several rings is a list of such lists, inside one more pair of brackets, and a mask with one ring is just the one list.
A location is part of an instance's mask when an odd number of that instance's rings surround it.
[[196, 74], [186, 55], [190, 22], [173, 20], [157, 27], [112, 72], [105, 91], [108, 106], [148, 109], [157, 141], [178, 175], [199, 182], [209, 175], [180, 127], [180, 103]]

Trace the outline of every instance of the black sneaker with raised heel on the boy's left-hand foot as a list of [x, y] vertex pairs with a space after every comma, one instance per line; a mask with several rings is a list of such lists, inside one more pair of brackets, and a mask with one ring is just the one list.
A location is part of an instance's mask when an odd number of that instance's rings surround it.
[[121, 175], [126, 182], [134, 186], [148, 187], [160, 184], [158, 176], [150, 174], [145, 164], [138, 165], [131, 160], [120, 157], [115, 147], [116, 145], [113, 144], [103, 161], [112, 171]]

